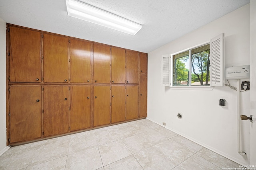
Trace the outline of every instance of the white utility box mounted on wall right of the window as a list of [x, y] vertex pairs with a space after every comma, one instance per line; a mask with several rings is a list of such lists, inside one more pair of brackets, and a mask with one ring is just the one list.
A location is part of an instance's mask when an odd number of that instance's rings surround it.
[[225, 79], [250, 78], [250, 65], [225, 68]]

